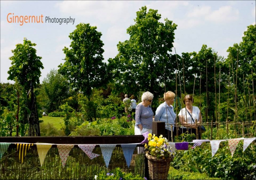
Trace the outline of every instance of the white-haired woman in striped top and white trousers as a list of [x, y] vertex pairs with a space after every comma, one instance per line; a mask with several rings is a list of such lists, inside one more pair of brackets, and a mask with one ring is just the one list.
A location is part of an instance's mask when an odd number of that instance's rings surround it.
[[152, 133], [152, 122], [154, 113], [151, 109], [151, 103], [154, 95], [151, 92], [144, 92], [141, 101], [135, 109], [134, 134], [142, 135], [145, 132]]

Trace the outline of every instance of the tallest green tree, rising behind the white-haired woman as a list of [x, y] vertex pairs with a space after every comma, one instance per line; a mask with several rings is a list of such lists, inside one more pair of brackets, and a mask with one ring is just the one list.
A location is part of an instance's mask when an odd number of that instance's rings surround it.
[[[164, 88], [165, 79], [175, 77], [176, 59], [171, 57], [174, 30], [177, 25], [164, 19], [157, 10], [144, 6], [137, 12], [135, 24], [127, 29], [130, 39], [117, 44], [118, 55], [108, 59], [108, 67], [113, 72], [119, 92], [150, 91], [157, 98]], [[134, 92], [134, 93], [133, 93]], [[154, 105], [153, 105], [154, 106]]]

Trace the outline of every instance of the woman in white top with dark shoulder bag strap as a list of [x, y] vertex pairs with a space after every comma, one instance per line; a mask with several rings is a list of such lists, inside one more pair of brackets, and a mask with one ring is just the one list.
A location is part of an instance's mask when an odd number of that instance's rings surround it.
[[[183, 103], [185, 108], [180, 110], [179, 121], [182, 124], [181, 133], [188, 131], [190, 134], [196, 135], [196, 129], [198, 132], [198, 139], [201, 139], [200, 122], [202, 121], [202, 115], [200, 109], [197, 106], [192, 106], [193, 97], [188, 94], [185, 96]], [[191, 117], [192, 116], [192, 117]]]

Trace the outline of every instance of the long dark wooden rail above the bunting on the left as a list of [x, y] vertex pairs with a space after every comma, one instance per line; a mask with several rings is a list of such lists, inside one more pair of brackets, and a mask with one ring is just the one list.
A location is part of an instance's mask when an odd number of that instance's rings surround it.
[[61, 137], [0, 137], [8, 143], [51, 143], [51, 144], [132, 144], [141, 143], [142, 135], [132, 136], [61, 136]]

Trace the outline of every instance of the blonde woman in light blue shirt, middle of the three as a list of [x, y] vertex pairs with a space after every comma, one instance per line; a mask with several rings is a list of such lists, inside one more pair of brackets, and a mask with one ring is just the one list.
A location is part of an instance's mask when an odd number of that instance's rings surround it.
[[175, 94], [172, 91], [167, 91], [164, 93], [165, 101], [157, 107], [155, 114], [155, 121], [165, 122], [165, 137], [168, 139], [168, 141], [172, 141], [171, 135], [173, 134], [173, 142], [177, 132], [177, 127], [174, 127], [176, 124], [176, 114], [174, 113], [172, 106], [174, 98]]

